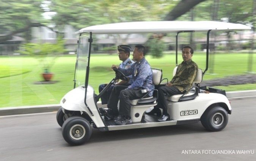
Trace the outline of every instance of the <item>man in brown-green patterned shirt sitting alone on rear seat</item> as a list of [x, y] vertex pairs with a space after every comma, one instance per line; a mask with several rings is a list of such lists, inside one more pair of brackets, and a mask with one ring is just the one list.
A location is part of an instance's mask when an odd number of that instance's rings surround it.
[[191, 60], [193, 53], [194, 51], [190, 46], [182, 48], [182, 58], [184, 61], [178, 65], [173, 79], [168, 82], [166, 86], [159, 87], [157, 105], [153, 110], [146, 112], [146, 114], [161, 114], [159, 108], [162, 108], [163, 114], [158, 121], [162, 122], [170, 120], [170, 115], [167, 113], [168, 105], [166, 97], [173, 96], [174, 94], [184, 94], [192, 87], [198, 70], [196, 63]]

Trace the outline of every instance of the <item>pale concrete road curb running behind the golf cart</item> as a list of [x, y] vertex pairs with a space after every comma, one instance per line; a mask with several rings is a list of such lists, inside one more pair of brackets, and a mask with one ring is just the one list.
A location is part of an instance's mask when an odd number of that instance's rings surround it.
[[[256, 90], [226, 92], [228, 99], [256, 97]], [[99, 104], [99, 102], [98, 102]], [[0, 108], [0, 116], [58, 111], [60, 104]]]

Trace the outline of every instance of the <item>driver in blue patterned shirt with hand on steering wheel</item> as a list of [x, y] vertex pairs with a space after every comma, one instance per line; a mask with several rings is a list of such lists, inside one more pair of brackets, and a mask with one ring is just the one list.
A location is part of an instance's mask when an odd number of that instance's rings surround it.
[[[130, 104], [129, 100], [138, 99], [144, 96], [144, 93], [141, 93], [142, 89], [147, 91], [154, 90], [154, 84], [152, 83], [152, 70], [145, 59], [146, 49], [142, 45], [135, 46], [133, 50], [133, 60], [136, 62], [129, 69], [119, 70], [124, 73], [126, 76], [132, 74], [132, 84], [127, 86], [116, 85], [110, 98], [108, 100], [108, 111], [105, 114], [105, 118], [114, 119], [117, 125], [132, 124], [132, 119], [130, 117]], [[116, 67], [112, 65], [112, 68]], [[152, 93], [149, 93], [149, 96], [152, 96]], [[119, 111], [118, 111], [118, 100], [119, 102]], [[117, 117], [116, 117], [117, 116]]]

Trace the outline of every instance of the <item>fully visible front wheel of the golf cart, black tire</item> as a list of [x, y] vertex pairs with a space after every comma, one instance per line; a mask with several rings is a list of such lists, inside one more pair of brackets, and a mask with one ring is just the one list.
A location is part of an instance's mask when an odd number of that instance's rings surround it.
[[66, 119], [62, 126], [62, 136], [71, 145], [84, 144], [91, 138], [91, 133], [90, 123], [80, 116]]

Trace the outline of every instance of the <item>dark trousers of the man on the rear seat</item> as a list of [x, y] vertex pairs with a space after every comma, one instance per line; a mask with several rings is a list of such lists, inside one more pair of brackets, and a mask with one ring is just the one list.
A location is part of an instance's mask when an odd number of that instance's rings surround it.
[[[185, 91], [184, 91], [185, 92]], [[181, 92], [178, 90], [177, 87], [171, 86], [162, 86], [158, 88], [158, 99], [157, 99], [157, 105], [155, 107], [162, 108], [163, 109], [163, 115], [167, 115], [167, 97], [173, 96], [175, 94], [183, 94], [184, 92]]]

